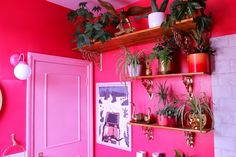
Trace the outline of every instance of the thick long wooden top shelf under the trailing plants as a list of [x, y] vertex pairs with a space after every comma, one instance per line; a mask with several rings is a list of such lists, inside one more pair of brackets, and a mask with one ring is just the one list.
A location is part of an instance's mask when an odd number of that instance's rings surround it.
[[[183, 31], [190, 31], [191, 29], [195, 28], [196, 25], [193, 22], [193, 19], [186, 19], [181, 22], [178, 22], [174, 26], [175, 28]], [[150, 43], [155, 42], [157, 38], [163, 34], [171, 34], [171, 29], [168, 29], [165, 31], [161, 27], [155, 27], [145, 30], [140, 30], [137, 32], [121, 35], [118, 37], [114, 37], [109, 41], [106, 41], [105, 43], [96, 42], [91, 46], [85, 46], [83, 49], [88, 51], [99, 51], [101, 53], [119, 49], [122, 46], [128, 47], [132, 45], [139, 45], [144, 43]], [[75, 48], [73, 50], [79, 50], [78, 48]]]

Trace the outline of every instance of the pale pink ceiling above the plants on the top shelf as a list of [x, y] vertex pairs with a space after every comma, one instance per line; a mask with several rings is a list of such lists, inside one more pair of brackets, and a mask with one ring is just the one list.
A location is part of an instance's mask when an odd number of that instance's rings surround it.
[[[58, 4], [60, 6], [75, 10], [78, 7], [78, 4], [80, 2], [88, 2], [88, 6], [94, 6], [97, 5], [97, 0], [47, 0], [49, 2]], [[110, 2], [116, 9], [122, 8], [124, 6], [127, 6], [130, 3], [133, 3], [137, 0], [105, 0], [107, 2]]]

